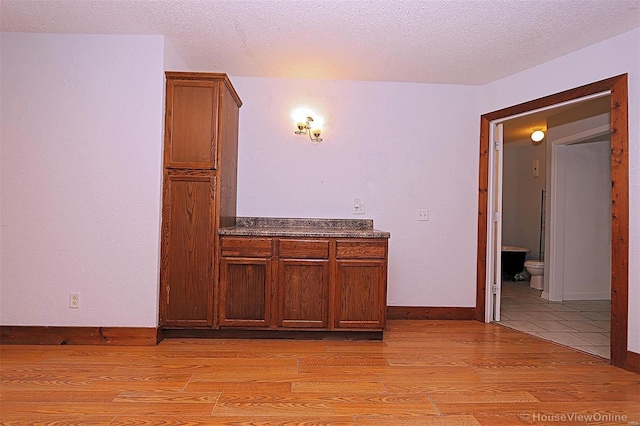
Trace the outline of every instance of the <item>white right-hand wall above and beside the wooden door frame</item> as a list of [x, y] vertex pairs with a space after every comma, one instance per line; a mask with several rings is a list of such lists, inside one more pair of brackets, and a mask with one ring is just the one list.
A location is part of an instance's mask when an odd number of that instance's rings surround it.
[[487, 113], [594, 81], [629, 74], [629, 350], [640, 353], [640, 29], [487, 84]]

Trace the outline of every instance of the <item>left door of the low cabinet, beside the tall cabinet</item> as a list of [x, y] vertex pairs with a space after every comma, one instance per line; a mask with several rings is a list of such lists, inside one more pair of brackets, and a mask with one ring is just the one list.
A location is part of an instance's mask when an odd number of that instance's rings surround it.
[[223, 257], [220, 268], [220, 327], [268, 327], [271, 260]]

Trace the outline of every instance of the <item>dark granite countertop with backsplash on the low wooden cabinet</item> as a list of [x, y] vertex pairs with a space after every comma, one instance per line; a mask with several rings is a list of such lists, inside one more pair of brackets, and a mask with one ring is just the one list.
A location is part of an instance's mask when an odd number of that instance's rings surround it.
[[302, 219], [239, 217], [236, 226], [220, 228], [218, 234], [260, 237], [389, 238], [373, 229], [372, 219]]

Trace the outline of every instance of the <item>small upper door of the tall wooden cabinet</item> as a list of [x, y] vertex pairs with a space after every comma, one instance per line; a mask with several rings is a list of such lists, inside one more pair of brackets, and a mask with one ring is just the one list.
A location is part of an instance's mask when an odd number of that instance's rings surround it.
[[164, 166], [216, 169], [217, 81], [167, 80]]

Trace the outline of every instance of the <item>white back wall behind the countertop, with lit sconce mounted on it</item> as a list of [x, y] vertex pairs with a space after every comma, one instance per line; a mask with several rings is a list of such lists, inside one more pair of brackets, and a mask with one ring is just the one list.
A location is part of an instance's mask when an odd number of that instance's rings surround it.
[[[231, 80], [244, 102], [238, 215], [372, 218], [391, 232], [389, 305], [475, 306], [476, 87]], [[325, 118], [324, 142], [294, 134], [303, 105]]]

